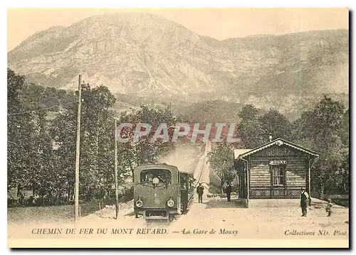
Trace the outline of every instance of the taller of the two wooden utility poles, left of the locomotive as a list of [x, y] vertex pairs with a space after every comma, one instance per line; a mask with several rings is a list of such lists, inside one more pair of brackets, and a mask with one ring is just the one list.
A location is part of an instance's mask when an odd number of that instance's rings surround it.
[[80, 114], [82, 104], [82, 75], [79, 75], [78, 80], [78, 119], [77, 119], [77, 150], [75, 158], [75, 222], [79, 219], [79, 159], [80, 159]]

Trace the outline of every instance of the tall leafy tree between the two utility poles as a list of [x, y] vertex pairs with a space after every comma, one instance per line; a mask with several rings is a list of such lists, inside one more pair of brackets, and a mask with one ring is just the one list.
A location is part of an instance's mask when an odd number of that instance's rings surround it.
[[82, 95], [83, 149], [80, 156], [80, 186], [84, 197], [90, 200], [105, 196], [108, 192], [106, 179], [114, 174], [115, 129], [112, 109], [116, 99], [108, 87], [103, 85], [93, 89], [87, 85]]

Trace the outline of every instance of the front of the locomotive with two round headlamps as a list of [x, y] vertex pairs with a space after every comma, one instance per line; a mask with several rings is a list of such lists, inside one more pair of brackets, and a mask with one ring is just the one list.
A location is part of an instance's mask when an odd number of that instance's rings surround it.
[[134, 170], [135, 217], [169, 219], [180, 213], [179, 172], [166, 164], [137, 166]]

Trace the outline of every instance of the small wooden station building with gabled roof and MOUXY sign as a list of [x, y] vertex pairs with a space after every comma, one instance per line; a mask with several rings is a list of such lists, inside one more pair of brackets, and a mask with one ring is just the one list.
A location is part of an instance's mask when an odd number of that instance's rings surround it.
[[310, 194], [310, 166], [318, 153], [275, 139], [253, 149], [234, 150], [239, 173], [239, 197], [251, 199], [299, 198], [300, 188]]

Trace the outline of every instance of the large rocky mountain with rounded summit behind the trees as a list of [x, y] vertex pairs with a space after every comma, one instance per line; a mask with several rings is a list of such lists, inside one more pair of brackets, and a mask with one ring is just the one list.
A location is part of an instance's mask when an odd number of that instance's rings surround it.
[[75, 89], [82, 74], [144, 101], [224, 100], [294, 116], [314, 96], [348, 97], [348, 38], [340, 29], [216, 40], [151, 14], [115, 13], [35, 33], [8, 65], [43, 87]]

